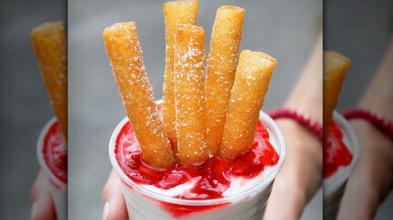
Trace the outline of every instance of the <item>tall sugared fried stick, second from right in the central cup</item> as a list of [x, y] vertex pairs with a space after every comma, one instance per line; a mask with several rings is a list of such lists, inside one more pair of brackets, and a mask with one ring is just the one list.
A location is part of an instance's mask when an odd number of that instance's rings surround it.
[[219, 155], [229, 98], [235, 78], [244, 9], [223, 6], [217, 10], [210, 40], [206, 76], [207, 145]]

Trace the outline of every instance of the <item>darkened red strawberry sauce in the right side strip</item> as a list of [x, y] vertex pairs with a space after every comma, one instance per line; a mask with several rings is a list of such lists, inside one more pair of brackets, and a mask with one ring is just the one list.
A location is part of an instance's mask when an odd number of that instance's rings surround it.
[[328, 141], [323, 147], [323, 179], [332, 176], [340, 166], [348, 166], [352, 162], [352, 154], [343, 141], [343, 133], [332, 121]]

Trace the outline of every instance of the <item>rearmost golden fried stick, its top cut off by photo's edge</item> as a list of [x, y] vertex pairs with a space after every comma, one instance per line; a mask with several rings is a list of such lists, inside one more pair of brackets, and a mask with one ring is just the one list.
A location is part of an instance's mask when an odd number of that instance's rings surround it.
[[172, 151], [177, 153], [175, 130], [175, 95], [173, 85], [173, 46], [177, 24], [195, 25], [198, 1], [176, 1], [164, 3], [166, 59], [163, 86], [162, 118], [165, 132], [171, 141]]

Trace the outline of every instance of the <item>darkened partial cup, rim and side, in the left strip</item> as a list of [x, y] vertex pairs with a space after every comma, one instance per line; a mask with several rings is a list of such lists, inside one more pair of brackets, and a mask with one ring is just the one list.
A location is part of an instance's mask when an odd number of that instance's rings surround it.
[[[43, 150], [45, 145], [45, 137], [48, 135], [49, 130], [55, 125], [57, 122], [56, 118], [53, 117], [48, 123], [46, 123], [45, 127], [42, 129], [37, 142], [37, 157], [38, 162], [41, 166], [41, 169], [46, 174], [47, 178], [50, 182], [50, 192], [52, 194], [54, 207], [56, 210], [56, 215], [58, 220], [66, 220], [67, 219], [67, 183], [61, 181], [49, 168], [47, 161], [44, 158]], [[62, 136], [62, 133], [61, 133]], [[64, 139], [62, 139], [64, 140]], [[65, 143], [65, 140], [63, 143]]]

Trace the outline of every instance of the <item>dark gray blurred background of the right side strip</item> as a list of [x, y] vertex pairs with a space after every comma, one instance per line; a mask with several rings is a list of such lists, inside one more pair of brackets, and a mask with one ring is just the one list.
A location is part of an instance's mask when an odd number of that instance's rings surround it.
[[[352, 61], [340, 93], [338, 111], [356, 106], [377, 70], [392, 34], [391, 0], [323, 1], [323, 47], [338, 51]], [[375, 219], [392, 219], [392, 207], [393, 193], [390, 191]]]

